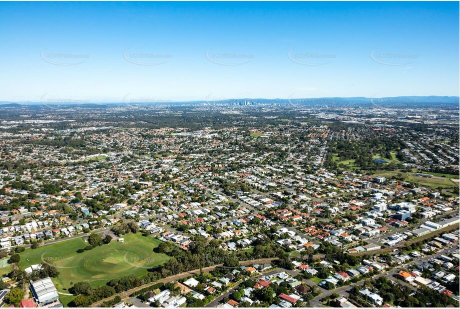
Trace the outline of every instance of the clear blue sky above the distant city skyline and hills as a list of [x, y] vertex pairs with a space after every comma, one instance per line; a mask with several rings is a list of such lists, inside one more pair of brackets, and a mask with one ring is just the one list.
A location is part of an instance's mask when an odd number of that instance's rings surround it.
[[0, 100], [459, 95], [458, 2], [1, 2]]

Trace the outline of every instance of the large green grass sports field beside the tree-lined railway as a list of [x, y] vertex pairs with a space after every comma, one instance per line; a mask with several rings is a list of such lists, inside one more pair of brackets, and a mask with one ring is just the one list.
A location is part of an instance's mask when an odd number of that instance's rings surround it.
[[149, 267], [161, 265], [170, 258], [153, 252], [161, 240], [139, 233], [125, 234], [123, 238], [124, 242], [114, 239], [82, 253], [76, 252], [87, 245], [82, 238], [26, 249], [20, 253], [19, 266], [24, 269], [43, 260], [52, 261], [59, 270], [59, 276], [52, 280], [58, 291], [68, 293], [73, 283], [87, 280], [92, 286], [101, 286], [113, 278], [143, 275]]

